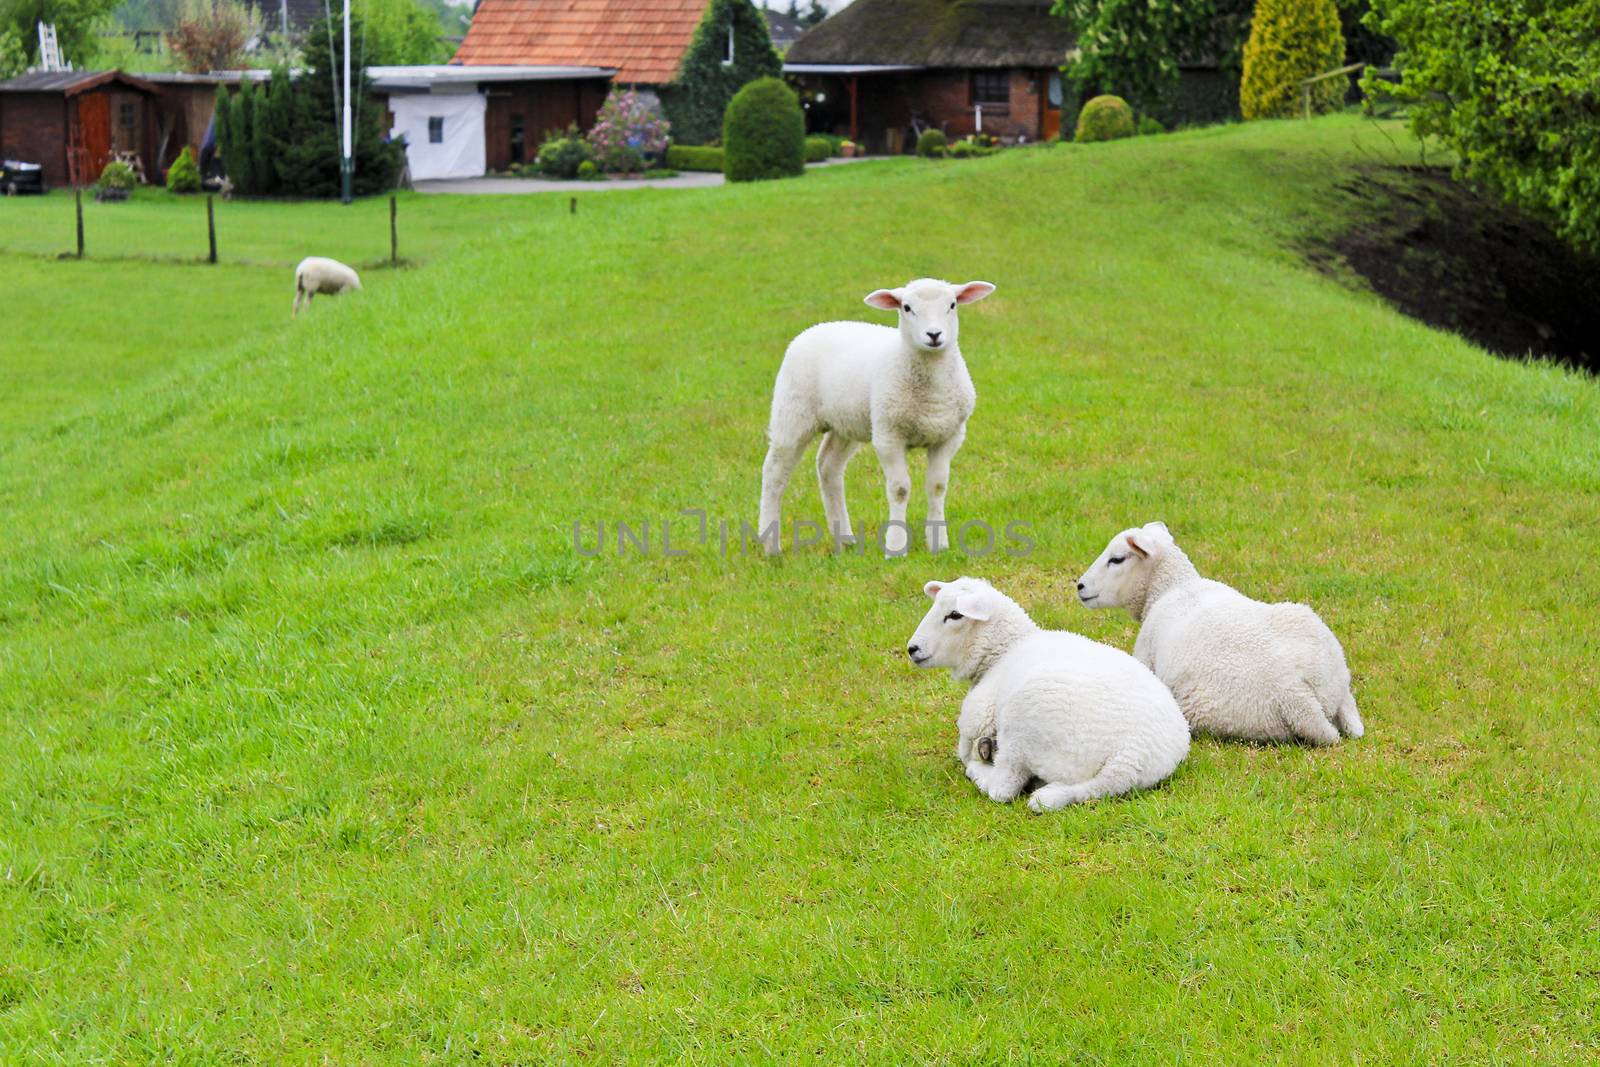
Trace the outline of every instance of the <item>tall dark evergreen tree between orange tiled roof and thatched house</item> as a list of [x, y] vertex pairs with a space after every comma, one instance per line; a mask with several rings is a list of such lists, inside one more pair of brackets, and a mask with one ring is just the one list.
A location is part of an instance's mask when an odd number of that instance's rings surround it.
[[[730, 27], [733, 62], [723, 62]], [[674, 139], [680, 144], [715, 141], [733, 94], [757, 78], [774, 78], [782, 70], [782, 59], [766, 32], [766, 18], [750, 0], [710, 0], [694, 30], [694, 43], [683, 53], [677, 78], [661, 94]]]

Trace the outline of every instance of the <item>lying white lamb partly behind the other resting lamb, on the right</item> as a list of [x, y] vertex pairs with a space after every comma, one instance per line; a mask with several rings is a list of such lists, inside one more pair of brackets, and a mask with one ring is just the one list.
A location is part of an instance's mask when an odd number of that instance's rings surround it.
[[1165, 523], [1112, 537], [1078, 600], [1141, 622], [1133, 654], [1171, 686], [1195, 733], [1314, 745], [1362, 736], [1344, 649], [1317, 613], [1200, 577]]

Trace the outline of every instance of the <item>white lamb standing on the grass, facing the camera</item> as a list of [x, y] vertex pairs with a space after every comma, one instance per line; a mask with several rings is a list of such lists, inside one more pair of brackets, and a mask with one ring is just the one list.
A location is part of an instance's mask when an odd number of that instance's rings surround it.
[[816, 477], [829, 533], [837, 542], [853, 536], [845, 507], [845, 466], [861, 445], [872, 442], [890, 498], [885, 553], [906, 552], [909, 448], [928, 450], [928, 550], [944, 550], [950, 459], [966, 437], [966, 419], [978, 403], [957, 344], [955, 309], [994, 291], [987, 282], [950, 285], [918, 278], [898, 290], [877, 290], [866, 299], [872, 307], [898, 312], [898, 330], [830, 322], [789, 342], [773, 387], [766, 462], [762, 466], [758, 534], [768, 552], [782, 550], [784, 490], [818, 434], [822, 443], [816, 450]]

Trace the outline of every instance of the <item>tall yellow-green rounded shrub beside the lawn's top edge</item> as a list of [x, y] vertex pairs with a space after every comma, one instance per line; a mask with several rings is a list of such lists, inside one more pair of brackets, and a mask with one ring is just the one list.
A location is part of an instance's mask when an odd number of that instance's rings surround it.
[[[1245, 118], [1290, 118], [1304, 109], [1304, 78], [1344, 66], [1344, 30], [1334, 0], [1258, 0], [1245, 42], [1238, 109]], [[1344, 78], [1310, 86], [1312, 114], [1344, 102]]]

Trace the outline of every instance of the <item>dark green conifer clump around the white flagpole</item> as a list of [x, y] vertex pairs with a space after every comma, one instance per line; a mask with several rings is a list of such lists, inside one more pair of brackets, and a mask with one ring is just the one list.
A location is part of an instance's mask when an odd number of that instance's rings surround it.
[[[360, 19], [352, 16], [350, 37], [358, 40]], [[314, 29], [306, 38], [299, 77], [272, 72], [266, 88], [248, 82], [232, 98], [218, 90], [216, 138], [222, 165], [242, 195], [336, 197], [339, 195], [341, 117], [338, 91], [342, 35], [338, 22]], [[382, 106], [373, 98], [365, 75], [352, 82], [355, 194], [371, 195], [394, 187], [403, 149], [384, 139]]]

